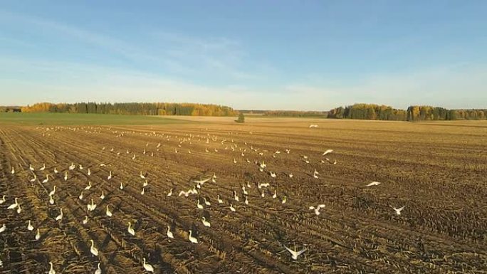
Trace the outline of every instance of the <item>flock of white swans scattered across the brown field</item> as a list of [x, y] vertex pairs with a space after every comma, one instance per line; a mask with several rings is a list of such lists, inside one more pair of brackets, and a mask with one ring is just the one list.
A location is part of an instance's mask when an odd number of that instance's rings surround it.
[[[313, 127], [318, 127], [317, 125], [311, 125], [310, 128], [313, 128]], [[119, 137], [120, 136], [123, 136], [123, 133], [120, 133]], [[169, 138], [169, 135], [167, 135], [167, 137]], [[192, 142], [192, 137], [195, 137], [194, 135], [189, 135], [189, 137], [185, 137], [184, 139], [182, 139], [181, 142], [179, 142], [178, 144], [178, 147], [181, 148], [182, 147], [182, 144], [184, 142], [189, 142], [191, 143]], [[201, 137], [200, 137], [201, 139]], [[213, 140], [213, 141], [216, 141], [216, 138], [213, 139], [211, 137], [206, 137], [206, 143], [208, 144], [210, 142], [210, 140]], [[223, 139], [221, 141], [221, 144], [224, 144], [224, 142], [226, 142], [226, 139]], [[229, 142], [229, 141], [228, 141]], [[247, 143], [245, 142], [244, 144], [247, 145]], [[148, 143], [146, 144], [146, 147], [148, 146]], [[159, 147], [161, 146], [161, 144], [157, 144], [157, 149], [159, 149]], [[174, 153], [181, 153], [178, 151], [178, 147], [176, 149], [174, 149]], [[248, 146], [250, 147], [251, 151], [253, 152], [256, 152], [256, 154], [258, 155], [263, 155], [263, 152], [268, 152], [267, 150], [262, 150], [259, 152], [259, 149], [256, 149], [256, 148], [253, 148], [252, 146]], [[232, 150], [236, 150], [237, 148], [237, 144], [234, 143], [234, 140], [232, 139], [231, 140], [231, 148]], [[229, 147], [226, 147], [225, 149], [229, 149]], [[105, 151], [105, 147], [103, 147], [102, 149], [102, 152]], [[108, 149], [106, 149], [108, 150]], [[110, 149], [110, 152], [113, 152], [114, 149]], [[209, 149], [206, 147], [205, 148], [205, 152], [209, 152]], [[218, 152], [218, 149], [214, 149], [214, 152]], [[246, 153], [248, 153], [247, 149], [241, 149], [240, 148], [240, 154], [242, 157], [245, 156]], [[290, 149], [286, 149], [285, 150], [286, 154], [290, 154]], [[325, 157], [325, 155], [328, 155], [328, 154], [331, 154], [332, 152], [334, 152], [332, 149], [327, 149], [325, 150], [325, 152], [323, 152], [323, 154], [321, 155], [322, 157]], [[144, 148], [142, 154], [146, 154], [148, 153], [146, 151], [146, 149]], [[191, 154], [191, 150], [189, 149], [188, 150], [188, 153]], [[276, 157], [276, 155], [280, 154], [281, 152], [278, 150], [276, 152], [273, 152], [272, 156], [273, 157]], [[117, 152], [117, 154], [120, 154], [120, 152]], [[131, 159], [135, 159], [136, 158], [136, 154], [134, 154], [133, 152], [130, 152], [129, 149], [127, 149], [126, 151], [126, 154], [132, 154], [133, 156], [130, 157]], [[152, 156], [153, 156], [153, 152], [152, 152]], [[308, 159], [308, 156], [306, 155], [302, 155], [300, 156], [303, 158], [303, 161], [304, 162], [307, 162], [309, 163], [309, 159]], [[334, 161], [331, 161], [330, 159], [328, 158], [325, 158], [325, 160], [327, 162], [329, 162], [330, 164], [337, 164], [337, 161], [334, 160]], [[234, 164], [236, 164], [237, 160], [236, 158], [233, 159], [232, 161]], [[246, 162], [248, 163], [251, 163], [251, 161], [249, 161], [248, 159], [246, 159]], [[325, 161], [322, 159], [321, 160], [321, 163], [324, 163]], [[264, 160], [261, 160], [261, 161], [258, 161], [257, 159], [254, 161], [254, 164], [256, 164], [256, 168], [260, 171], [260, 172], [266, 172], [271, 178], [276, 178], [276, 176], [278, 176], [278, 174], [276, 172], [272, 172], [270, 170], [268, 170], [268, 167], [267, 167], [267, 164]], [[96, 164], [96, 165], [92, 165], [91, 167], [95, 167], [95, 166], [99, 166], [99, 167], [107, 167], [108, 164]], [[28, 171], [31, 172], [32, 174], [32, 179], [30, 179], [29, 181], [31, 183], [34, 183], [34, 182], [38, 182], [39, 184], [46, 184], [48, 183], [49, 181], [53, 180], [53, 181], [56, 181], [58, 184], [61, 184], [63, 181], [64, 182], [68, 182], [68, 180], [73, 177], [73, 172], [85, 172], [85, 174], [88, 176], [88, 178], [91, 176], [92, 174], [92, 171], [90, 169], [90, 167], [88, 167], [87, 169], [85, 169], [83, 167], [82, 164], [75, 164], [75, 163], [70, 163], [70, 165], [66, 168], [66, 171], [64, 172], [64, 174], [61, 174], [59, 171], [58, 171], [58, 168], [57, 167], [53, 167], [52, 169], [52, 173], [50, 173], [48, 171], [48, 169], [46, 168], [46, 164], [42, 164], [41, 167], [39, 167], [37, 169], [37, 172], [43, 172], [45, 174], [43, 174], [42, 178], [45, 178], [43, 179], [42, 181], [40, 181], [37, 177], [37, 174], [36, 174], [36, 168], [33, 167], [32, 164], [29, 164], [28, 167], [26, 167], [28, 169]], [[63, 167], [60, 167], [61, 170], [65, 170], [63, 169]], [[101, 169], [100, 169], [101, 170]], [[22, 172], [22, 171], [21, 171]], [[15, 175], [16, 174], [16, 169], [14, 168], [14, 166], [11, 167], [11, 171], [10, 173], [12, 175]], [[58, 176], [56, 176], [56, 174], [58, 174]], [[45, 175], [45, 176], [44, 176]], [[315, 179], [318, 179], [320, 175], [320, 173], [315, 169], [314, 172], [310, 172], [310, 175], [313, 176], [313, 178]], [[148, 186], [148, 181], [147, 181], [147, 176], [148, 174], [145, 174], [144, 172], [140, 171], [139, 174], [135, 175], [135, 176], [138, 176], [140, 177], [140, 180], [142, 182], [142, 186], [141, 186], [141, 189], [140, 189], [140, 194], [141, 195], [145, 195], [145, 188], [146, 186]], [[292, 173], [288, 173], [287, 174], [288, 177], [292, 178], [293, 177], [293, 174]], [[106, 179], [108, 181], [110, 181], [112, 178], [114, 177], [114, 175], [112, 174], [112, 170], [108, 171], [108, 176], [106, 177]], [[198, 194], [205, 186], [205, 184], [215, 184], [216, 183], [216, 174], [214, 173], [213, 176], [209, 176], [208, 178], [204, 178], [204, 179], [199, 179], [199, 180], [193, 180], [192, 183], [194, 183], [193, 187], [190, 188], [190, 189], [180, 189], [179, 192], [176, 192], [177, 193], [177, 197], [180, 197], [180, 196], [183, 196], [183, 198], [185, 197], [189, 197], [191, 195], [194, 195], [194, 194]], [[381, 184], [379, 181], [372, 181], [370, 182], [370, 184], [366, 184], [365, 186], [367, 187], [370, 187], [370, 186], [379, 186], [379, 184]], [[257, 191], [259, 191], [259, 196], [261, 197], [265, 197], [266, 195], [266, 191], [264, 191], [264, 189], [268, 189], [268, 187], [271, 186], [271, 184], [269, 184], [268, 182], [259, 182], [257, 184]], [[85, 186], [85, 188], [81, 191], [80, 195], [78, 196], [78, 199], [80, 201], [85, 201], [85, 196], [83, 195], [83, 191], [89, 191], [91, 188], [93, 187], [91, 181], [88, 181], [88, 185]], [[124, 189], [124, 185], [122, 184], [122, 181], [120, 181], [120, 186], [115, 186], [117, 188], [119, 188], [120, 190], [123, 191]], [[229, 197], [229, 199], [227, 200], [228, 201], [228, 204], [226, 206], [228, 206], [228, 209], [230, 212], [236, 212], [237, 209], [238, 209], [238, 204], [240, 204], [241, 202], [243, 202], [244, 204], [248, 205], [249, 204], [249, 201], [248, 201], [248, 191], [250, 191], [251, 189], [251, 184], [249, 184], [247, 182], [247, 184], [242, 184], [241, 185], [241, 188], [240, 189], [236, 189], [233, 191], [233, 196]], [[59, 187], [59, 190], [61, 190], [62, 187]], [[49, 200], [48, 200], [48, 203], [49, 204], [55, 204], [56, 201], [55, 201], [55, 197], [56, 197], [56, 193], [58, 193], [57, 191], [58, 190], [58, 186], [57, 185], [54, 185], [52, 190], [49, 192], [48, 194], [48, 197], [49, 197]], [[169, 191], [167, 192], [167, 196], [173, 196], [173, 191], [175, 189], [169, 189]], [[239, 196], [239, 194], [241, 196]], [[175, 195], [174, 195], [175, 196]], [[218, 194], [215, 199], [216, 199], [216, 202], [218, 204], [220, 204], [221, 206], [224, 206], [225, 204], [225, 201], [224, 199], [222, 199], [223, 197]], [[276, 189], [274, 189], [273, 191], [273, 195], [272, 195], [272, 198], [273, 199], [277, 199], [278, 198], [278, 192]], [[105, 194], [103, 193], [103, 191], [101, 192], [100, 196], [99, 196], [99, 199], [100, 201], [103, 201], [103, 199], [105, 199]], [[182, 198], [179, 198], [179, 199], [182, 199]], [[281, 199], [278, 199], [278, 201], [280, 201], [281, 204], [286, 204], [286, 201], [287, 201], [288, 197], [286, 195], [283, 195], [281, 197]], [[8, 201], [12, 201], [11, 204], [8, 203]], [[17, 214], [21, 214], [22, 212], [22, 208], [21, 208], [21, 197], [7, 197], [6, 195], [3, 195], [1, 196], [1, 199], [0, 199], [0, 205], [4, 205], [4, 204], [9, 204], [9, 206], [6, 206], [4, 209], [6, 209], [7, 211], [16, 211]], [[209, 201], [209, 199], [207, 199], [206, 197], [204, 197], [201, 201], [200, 198], [197, 198], [196, 201], [195, 201], [195, 206], [197, 209], [205, 209], [206, 207], [208, 206], [211, 206], [211, 201]], [[391, 206], [392, 207], [392, 206]], [[88, 212], [92, 212], [92, 211], [95, 211], [96, 209], [99, 209], [98, 207], [98, 204], [95, 202], [95, 199], [93, 198], [90, 198], [88, 199], [88, 201], [86, 202], [86, 209], [87, 209], [87, 215], [82, 219], [80, 220], [80, 223], [83, 223], [83, 225], [86, 225], [88, 223], [88, 220], [89, 220], [89, 217], [88, 217]], [[309, 206], [307, 207], [308, 210], [310, 211], [314, 211], [314, 214], [316, 216], [320, 215], [320, 210], [324, 209], [325, 208], [325, 204], [318, 204], [318, 205], [313, 205], [313, 206]], [[395, 207], [392, 207], [392, 209], [394, 209], [395, 211], [395, 214], [397, 215], [400, 215], [402, 210], [405, 208], [405, 206], [402, 206], [400, 208], [395, 208]], [[3, 210], [3, 209], [1, 209]], [[115, 214], [114, 212], [112, 212], [110, 210], [110, 206], [107, 205], [104, 209], [99, 209], [98, 211], [98, 214], [100, 215], [105, 215], [106, 218], [111, 218], [113, 216], [113, 214]], [[102, 213], [103, 212], [103, 213]], [[55, 218], [56, 221], [59, 221], [59, 222], [62, 222], [63, 221], [63, 209], [60, 208], [59, 209], [59, 214], [56, 216]], [[206, 217], [202, 217], [201, 219], [199, 219], [198, 221], [201, 221], [201, 223], [203, 224], [203, 226], [206, 226], [206, 227], [211, 227], [211, 223], [209, 222], [209, 220], [206, 218]], [[1, 223], [0, 225], [0, 236], [2, 233], [6, 233], [6, 231], [8, 230], [17, 230], [17, 229], [23, 229], [23, 228], [15, 228], [15, 227], [9, 227], [8, 226], [8, 221], [7, 223]], [[41, 238], [41, 232], [39, 230], [39, 228], [35, 228], [33, 226], [33, 222], [31, 220], [28, 220], [28, 224], [26, 226], [26, 229], [28, 231], [34, 231], [36, 230], [36, 234], [35, 236], [33, 236], [33, 239], [34, 241], [39, 241], [40, 238]], [[130, 235], [132, 236], [135, 236], [136, 234], [136, 231], [134, 229], [134, 227], [132, 226], [132, 223], [127, 222], [127, 233], [129, 233]], [[194, 243], [194, 244], [197, 244], [199, 243], [199, 240], [198, 238], [196, 238], [194, 236], [194, 233], [191, 229], [188, 229], [187, 230], [187, 241], [189, 241], [190, 243]], [[174, 234], [172, 233], [171, 231], [171, 227], [168, 225], [167, 226], [167, 232], [166, 232], [166, 235], [167, 235], [167, 238], [171, 238], [171, 239], [174, 239]], [[287, 246], [284, 246], [284, 249], [286, 251], [288, 251], [291, 255], [291, 258], [293, 260], [298, 260], [298, 257], [303, 254], [307, 249], [306, 248], [303, 248], [301, 249], [300, 251], [297, 251], [297, 250], [293, 250], [291, 248], [288, 248]], [[99, 253], [100, 252], [103, 252], [103, 251], [99, 251], [98, 248], [95, 246], [95, 242], [93, 241], [93, 239], [90, 240], [90, 253], [95, 256], [95, 257], [98, 257]], [[154, 267], [152, 265], [150, 265], [150, 263], [147, 263], [147, 260], [146, 258], [142, 258], [142, 268], [147, 271], [148, 273], [153, 273], [155, 270], [154, 270]], [[53, 264], [53, 262], [49, 262], [49, 271], [48, 271], [48, 274], [56, 274], [56, 269], [55, 269], [55, 265]], [[2, 267], [3, 265], [3, 262], [0, 260], [0, 268]], [[98, 268], [95, 270], [95, 274], [101, 274], [102, 273], [102, 269], [100, 268], [100, 263], [98, 263]]]

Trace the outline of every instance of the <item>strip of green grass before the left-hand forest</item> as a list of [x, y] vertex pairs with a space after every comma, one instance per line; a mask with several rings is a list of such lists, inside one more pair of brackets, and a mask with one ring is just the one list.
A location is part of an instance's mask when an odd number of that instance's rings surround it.
[[0, 124], [16, 125], [165, 125], [182, 123], [168, 117], [78, 113], [0, 113]]

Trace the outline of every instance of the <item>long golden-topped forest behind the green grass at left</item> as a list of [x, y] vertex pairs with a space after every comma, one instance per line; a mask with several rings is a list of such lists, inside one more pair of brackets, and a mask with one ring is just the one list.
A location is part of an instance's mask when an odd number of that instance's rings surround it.
[[223, 105], [172, 102], [77, 102], [74, 104], [39, 102], [21, 107], [21, 112], [70, 112], [125, 115], [234, 116], [237, 112]]

